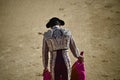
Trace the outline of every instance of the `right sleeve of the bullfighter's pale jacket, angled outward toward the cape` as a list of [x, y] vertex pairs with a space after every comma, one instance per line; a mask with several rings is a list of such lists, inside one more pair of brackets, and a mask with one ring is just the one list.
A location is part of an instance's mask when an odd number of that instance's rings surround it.
[[70, 36], [70, 50], [73, 53], [74, 57], [78, 58], [80, 56], [79, 51], [76, 47], [76, 44], [75, 44], [72, 36]]

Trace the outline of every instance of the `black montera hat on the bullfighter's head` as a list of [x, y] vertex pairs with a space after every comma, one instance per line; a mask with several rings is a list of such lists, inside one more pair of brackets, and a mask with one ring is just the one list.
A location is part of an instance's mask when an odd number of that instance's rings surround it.
[[49, 22], [46, 24], [47, 28], [53, 27], [55, 25], [65, 25], [65, 22], [57, 17], [53, 17], [49, 20]]

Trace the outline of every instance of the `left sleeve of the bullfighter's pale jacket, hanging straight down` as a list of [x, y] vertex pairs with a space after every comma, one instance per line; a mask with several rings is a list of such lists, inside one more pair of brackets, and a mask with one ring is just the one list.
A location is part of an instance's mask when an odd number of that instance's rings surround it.
[[46, 43], [45, 38], [43, 38], [43, 45], [42, 45], [42, 62], [43, 62], [43, 66], [44, 68], [48, 67], [48, 46]]

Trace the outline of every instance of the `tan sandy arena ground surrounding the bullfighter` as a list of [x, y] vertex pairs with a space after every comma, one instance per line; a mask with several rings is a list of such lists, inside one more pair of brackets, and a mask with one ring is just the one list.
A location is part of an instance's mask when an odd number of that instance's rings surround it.
[[120, 0], [0, 0], [0, 80], [42, 80], [38, 33], [52, 17], [85, 52], [87, 80], [120, 80]]

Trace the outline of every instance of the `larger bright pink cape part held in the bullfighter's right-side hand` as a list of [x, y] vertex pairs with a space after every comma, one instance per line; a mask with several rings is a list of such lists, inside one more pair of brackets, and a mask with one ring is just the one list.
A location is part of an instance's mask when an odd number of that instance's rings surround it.
[[[83, 52], [80, 53], [83, 56]], [[86, 80], [84, 62], [77, 60], [72, 66], [71, 80]]]

